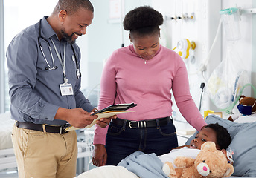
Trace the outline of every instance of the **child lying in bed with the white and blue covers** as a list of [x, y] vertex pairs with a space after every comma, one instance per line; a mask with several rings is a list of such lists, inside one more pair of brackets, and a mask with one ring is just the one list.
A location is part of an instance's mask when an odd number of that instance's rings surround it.
[[[162, 177], [167, 178], [167, 175], [162, 171], [162, 165], [165, 162], [173, 162], [177, 156], [189, 156], [196, 158], [199, 154], [201, 145], [207, 141], [214, 142], [218, 150], [223, 151], [226, 155], [226, 149], [231, 143], [231, 136], [228, 131], [219, 124], [205, 125], [196, 137], [191, 140], [190, 145], [185, 145], [178, 148], [173, 148], [168, 154], [156, 156], [156, 154], [144, 154], [141, 151], [136, 151], [134, 154], [127, 156], [118, 166], [102, 166], [90, 171], [87, 171], [79, 176], [83, 177], [103, 177], [106, 174], [109, 177], [123, 177], [124, 168], [129, 177]], [[124, 167], [124, 168], [123, 168]], [[107, 171], [107, 172], [106, 172]], [[78, 178], [78, 177], [77, 177]]]

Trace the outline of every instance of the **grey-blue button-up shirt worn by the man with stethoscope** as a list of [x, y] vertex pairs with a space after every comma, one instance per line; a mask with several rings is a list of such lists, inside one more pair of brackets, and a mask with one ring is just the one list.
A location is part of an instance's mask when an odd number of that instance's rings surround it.
[[[12, 119], [20, 122], [33, 122], [36, 124], [65, 125], [63, 120], [54, 120], [59, 107], [83, 108], [92, 111], [94, 108], [80, 91], [81, 79], [77, 79], [76, 63], [71, 44], [66, 46], [65, 73], [68, 83], [72, 85], [74, 95], [62, 96], [60, 84], [64, 83], [63, 67], [51, 43], [51, 39], [63, 58], [65, 39], [59, 41], [57, 34], [48, 24], [45, 16], [42, 18], [41, 33], [51, 45], [57, 69], [46, 70], [48, 67], [39, 48], [39, 23], [22, 30], [16, 35], [7, 47], [7, 67], [9, 69], [10, 86], [10, 112]], [[51, 39], [50, 39], [51, 38]], [[48, 43], [40, 39], [45, 57], [52, 67], [53, 62]], [[73, 44], [77, 62], [80, 63], [80, 49]]]

